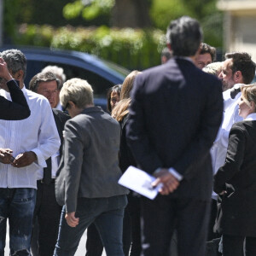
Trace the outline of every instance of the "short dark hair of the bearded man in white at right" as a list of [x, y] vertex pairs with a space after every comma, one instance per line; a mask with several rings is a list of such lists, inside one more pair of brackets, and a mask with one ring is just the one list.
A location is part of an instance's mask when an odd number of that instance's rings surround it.
[[226, 53], [226, 59], [232, 59], [232, 66], [230, 67], [232, 73], [241, 71], [242, 80], [244, 84], [250, 84], [255, 76], [255, 62], [252, 61], [252, 57], [247, 52], [233, 52]]

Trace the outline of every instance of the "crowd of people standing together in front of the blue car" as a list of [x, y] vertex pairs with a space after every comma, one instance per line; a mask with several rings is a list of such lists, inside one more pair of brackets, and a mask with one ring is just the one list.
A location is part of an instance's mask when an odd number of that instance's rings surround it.
[[[202, 36], [172, 20], [162, 64], [110, 88], [108, 113], [61, 67], [26, 89], [26, 56], [0, 53], [0, 256], [7, 219], [13, 256], [74, 255], [85, 230], [87, 256], [256, 255], [256, 64]], [[119, 185], [129, 166], [154, 200]]]

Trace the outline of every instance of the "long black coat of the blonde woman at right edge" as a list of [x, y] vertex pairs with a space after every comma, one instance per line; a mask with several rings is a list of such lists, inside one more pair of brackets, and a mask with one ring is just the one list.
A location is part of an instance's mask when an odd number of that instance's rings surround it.
[[214, 191], [223, 196], [215, 230], [236, 236], [256, 236], [256, 121], [232, 126], [224, 166], [214, 177]]

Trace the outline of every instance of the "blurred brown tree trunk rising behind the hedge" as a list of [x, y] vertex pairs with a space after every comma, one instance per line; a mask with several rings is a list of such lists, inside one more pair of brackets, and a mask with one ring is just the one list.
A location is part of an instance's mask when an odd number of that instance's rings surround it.
[[112, 15], [112, 26], [149, 27], [149, 1], [115, 0]]

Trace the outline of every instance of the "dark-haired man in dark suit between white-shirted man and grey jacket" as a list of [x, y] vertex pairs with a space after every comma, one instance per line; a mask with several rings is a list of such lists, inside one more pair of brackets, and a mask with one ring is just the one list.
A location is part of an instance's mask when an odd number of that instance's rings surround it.
[[[42, 72], [36, 74], [29, 83], [29, 89], [45, 96], [51, 108], [55, 108], [56, 96], [59, 94], [60, 81], [54, 73]], [[32, 229], [32, 255], [49, 256], [53, 255], [57, 241], [61, 206], [55, 198], [55, 177], [60, 163], [62, 153], [64, 125], [69, 119], [66, 113], [53, 109], [55, 124], [61, 138], [61, 147], [58, 152], [47, 160], [47, 167], [44, 172], [38, 173], [37, 201], [33, 218]]]

